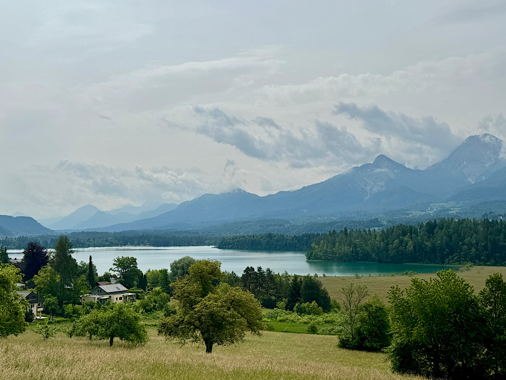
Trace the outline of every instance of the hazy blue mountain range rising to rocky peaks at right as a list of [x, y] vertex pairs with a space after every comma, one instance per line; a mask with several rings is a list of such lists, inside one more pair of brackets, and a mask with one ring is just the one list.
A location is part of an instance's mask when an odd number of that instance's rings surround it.
[[[323, 182], [265, 197], [238, 189], [204, 194], [180, 205], [146, 203], [110, 211], [87, 205], [40, 222], [52, 230], [112, 232], [185, 230], [253, 219], [339, 219], [343, 213], [357, 212], [374, 217], [385, 210], [427, 211], [432, 204], [445, 202], [459, 207], [491, 201], [506, 204], [505, 188], [506, 144], [482, 134], [468, 137], [446, 159], [424, 170], [380, 155]], [[1, 222], [0, 227], [12, 230]]]

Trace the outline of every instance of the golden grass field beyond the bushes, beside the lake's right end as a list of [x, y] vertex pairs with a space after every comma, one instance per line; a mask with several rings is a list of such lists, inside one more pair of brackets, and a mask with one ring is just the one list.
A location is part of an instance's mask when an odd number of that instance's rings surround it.
[[[469, 271], [460, 270], [457, 274], [473, 285], [478, 293], [485, 286], [485, 280], [492, 273], [502, 273], [506, 278], [506, 267], [473, 267]], [[436, 277], [435, 273], [417, 274], [415, 277], [428, 280]], [[400, 288], [407, 288], [411, 284], [409, 276], [364, 276], [356, 277], [319, 277], [323, 286], [327, 289], [330, 298], [339, 298], [339, 289], [350, 282], [366, 285], [370, 294], [378, 294], [387, 301], [387, 293], [392, 285], [399, 285]]]

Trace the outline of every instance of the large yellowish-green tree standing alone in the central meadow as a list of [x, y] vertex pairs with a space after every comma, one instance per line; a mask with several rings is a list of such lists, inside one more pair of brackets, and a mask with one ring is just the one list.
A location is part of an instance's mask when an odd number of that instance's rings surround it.
[[207, 353], [214, 345], [242, 341], [246, 331], [260, 335], [260, 302], [250, 292], [220, 284], [220, 266], [219, 261], [198, 260], [173, 284], [179, 309], [160, 322], [159, 334], [181, 344], [203, 341]]

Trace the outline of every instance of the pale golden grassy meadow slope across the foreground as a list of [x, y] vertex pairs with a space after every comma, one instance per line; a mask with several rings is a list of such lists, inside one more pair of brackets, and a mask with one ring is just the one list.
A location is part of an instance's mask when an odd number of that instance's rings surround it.
[[65, 336], [43, 340], [32, 331], [0, 340], [0, 378], [123, 379], [406, 379], [392, 374], [381, 353], [342, 350], [335, 336], [264, 332], [243, 344], [180, 347], [149, 330], [145, 347]]

